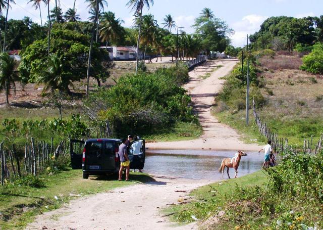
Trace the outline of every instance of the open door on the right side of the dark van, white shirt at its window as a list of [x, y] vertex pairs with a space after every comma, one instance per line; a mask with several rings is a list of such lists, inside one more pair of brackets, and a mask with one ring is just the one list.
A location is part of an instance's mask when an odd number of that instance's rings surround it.
[[131, 143], [128, 156], [131, 169], [143, 169], [146, 157], [145, 140], [139, 140]]

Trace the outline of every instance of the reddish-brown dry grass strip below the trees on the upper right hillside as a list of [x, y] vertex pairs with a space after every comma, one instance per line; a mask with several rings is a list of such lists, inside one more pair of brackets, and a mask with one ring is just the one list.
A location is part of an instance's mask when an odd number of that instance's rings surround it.
[[270, 70], [299, 69], [299, 67], [302, 65], [302, 60], [298, 56], [264, 56], [259, 59], [259, 62], [263, 68]]

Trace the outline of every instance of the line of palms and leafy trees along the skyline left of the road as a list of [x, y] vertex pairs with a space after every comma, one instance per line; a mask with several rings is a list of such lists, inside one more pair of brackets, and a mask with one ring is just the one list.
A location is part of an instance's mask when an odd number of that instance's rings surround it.
[[[107, 6], [105, 0], [85, 1], [90, 14], [88, 21], [81, 21], [75, 2], [73, 9], [65, 13], [57, 1], [53, 9], [49, 9], [49, 0], [31, 0], [29, 3], [39, 10], [39, 14], [40, 4], [48, 6], [46, 22], [41, 20], [39, 25], [28, 17], [8, 21], [7, 17], [0, 15], [0, 35], [7, 32], [8, 42], [4, 43], [4, 49], [21, 50], [19, 67], [15, 64], [18, 71], [14, 71], [10, 79], [3, 77], [7, 79], [1, 87], [6, 89], [7, 98], [10, 85], [17, 80], [43, 83], [45, 90], [59, 89], [69, 93], [72, 82], [83, 78], [87, 80], [87, 96], [89, 78], [95, 78], [99, 86], [109, 77], [112, 67], [112, 60], [104, 49], [100, 49], [101, 46], [136, 46], [148, 57], [194, 58], [200, 53], [225, 51], [230, 44], [228, 35], [233, 32], [210, 9], [204, 8], [193, 25], [194, 34], [172, 34], [171, 29], [176, 27], [176, 22], [171, 15], [166, 15], [159, 26], [152, 14], [142, 14], [143, 8], [149, 10], [153, 6], [152, 0], [130, 0], [127, 3], [126, 7], [131, 8], [135, 16], [131, 28], [123, 27], [123, 20], [115, 13], [104, 11]], [[136, 73], [140, 61], [138, 54]]]

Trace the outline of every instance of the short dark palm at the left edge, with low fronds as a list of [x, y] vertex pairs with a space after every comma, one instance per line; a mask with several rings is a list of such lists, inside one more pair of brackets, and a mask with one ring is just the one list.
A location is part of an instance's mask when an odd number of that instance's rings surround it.
[[18, 78], [15, 71], [16, 64], [16, 61], [7, 52], [0, 54], [0, 90], [6, 90], [7, 105], [9, 104], [10, 85], [15, 86], [15, 80]]

